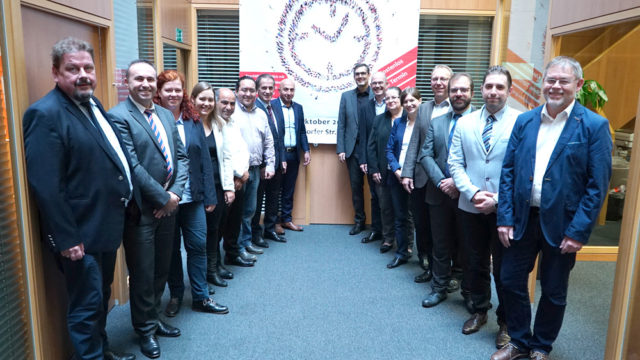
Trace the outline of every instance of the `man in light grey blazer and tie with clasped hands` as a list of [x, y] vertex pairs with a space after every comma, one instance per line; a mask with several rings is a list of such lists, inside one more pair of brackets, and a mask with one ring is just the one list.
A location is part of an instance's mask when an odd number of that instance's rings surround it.
[[511, 130], [519, 111], [507, 106], [511, 91], [511, 75], [502, 66], [487, 70], [482, 81], [485, 105], [458, 120], [449, 150], [449, 171], [460, 191], [458, 207], [465, 244], [465, 270], [471, 286], [474, 313], [462, 326], [462, 333], [472, 334], [487, 322], [491, 307], [491, 275], [498, 295], [496, 315], [500, 330], [498, 348], [509, 342], [502, 306], [500, 265], [503, 247], [498, 240], [496, 205], [498, 185]]

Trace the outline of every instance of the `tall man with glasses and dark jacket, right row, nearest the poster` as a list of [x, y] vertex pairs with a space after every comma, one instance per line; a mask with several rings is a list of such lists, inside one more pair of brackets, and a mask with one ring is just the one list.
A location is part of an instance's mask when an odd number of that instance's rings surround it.
[[349, 235], [359, 234], [365, 227], [364, 212], [364, 172], [360, 168], [359, 157], [366, 151], [367, 139], [362, 135], [367, 119], [373, 119], [373, 92], [369, 88], [369, 66], [356, 64], [353, 77], [356, 88], [342, 93], [338, 112], [338, 138], [336, 153], [340, 162], [347, 162], [349, 183], [351, 184], [351, 201], [355, 218]]

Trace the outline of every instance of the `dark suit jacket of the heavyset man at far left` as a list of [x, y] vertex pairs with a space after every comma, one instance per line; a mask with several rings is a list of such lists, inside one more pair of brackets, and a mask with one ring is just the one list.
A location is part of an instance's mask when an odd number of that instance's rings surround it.
[[[107, 119], [98, 99], [93, 100]], [[131, 164], [117, 129], [107, 122]], [[131, 193], [108, 141], [58, 87], [27, 109], [23, 130], [27, 179], [45, 242], [55, 252], [80, 243], [87, 253], [116, 251]]]

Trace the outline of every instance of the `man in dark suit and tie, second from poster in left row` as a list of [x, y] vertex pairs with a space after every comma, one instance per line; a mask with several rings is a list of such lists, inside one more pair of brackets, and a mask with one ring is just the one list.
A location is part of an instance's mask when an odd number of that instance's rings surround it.
[[[284, 122], [276, 118], [271, 98], [275, 90], [275, 80], [269, 74], [262, 74], [256, 79], [258, 98], [256, 106], [267, 115], [269, 129], [273, 136], [273, 148], [275, 150], [275, 174], [270, 179], [260, 179], [258, 196], [256, 197], [256, 212], [251, 220], [251, 241], [260, 247], [268, 248], [269, 244], [262, 238], [274, 241], [284, 240], [282, 235], [276, 233], [278, 224], [278, 205], [280, 201], [280, 186], [282, 176], [287, 172], [287, 161], [284, 157]], [[260, 215], [262, 213], [262, 200], [264, 198], [264, 231], [260, 227]], [[260, 250], [261, 251], [261, 250]]]

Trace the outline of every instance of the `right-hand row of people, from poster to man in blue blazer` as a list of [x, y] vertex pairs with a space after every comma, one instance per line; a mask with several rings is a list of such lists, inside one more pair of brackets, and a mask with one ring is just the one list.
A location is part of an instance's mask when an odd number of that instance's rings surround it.
[[[431, 281], [422, 306], [461, 289], [470, 317], [462, 333], [487, 322], [491, 272], [499, 325], [492, 360], [548, 359], [562, 325], [569, 273], [607, 194], [612, 142], [608, 121], [576, 102], [580, 64], [559, 56], [546, 66], [546, 103], [525, 113], [507, 105], [511, 74], [492, 66], [471, 100], [470, 74], [436, 65], [433, 99], [413, 87], [388, 87], [383, 73], [353, 68], [356, 88], [342, 94], [338, 158], [346, 162], [355, 224], [365, 229], [363, 185], [371, 193], [371, 231], [396, 252], [392, 269], [412, 256], [413, 241]], [[415, 234], [415, 237], [414, 237]], [[541, 253], [542, 295], [531, 330], [527, 279]]]

